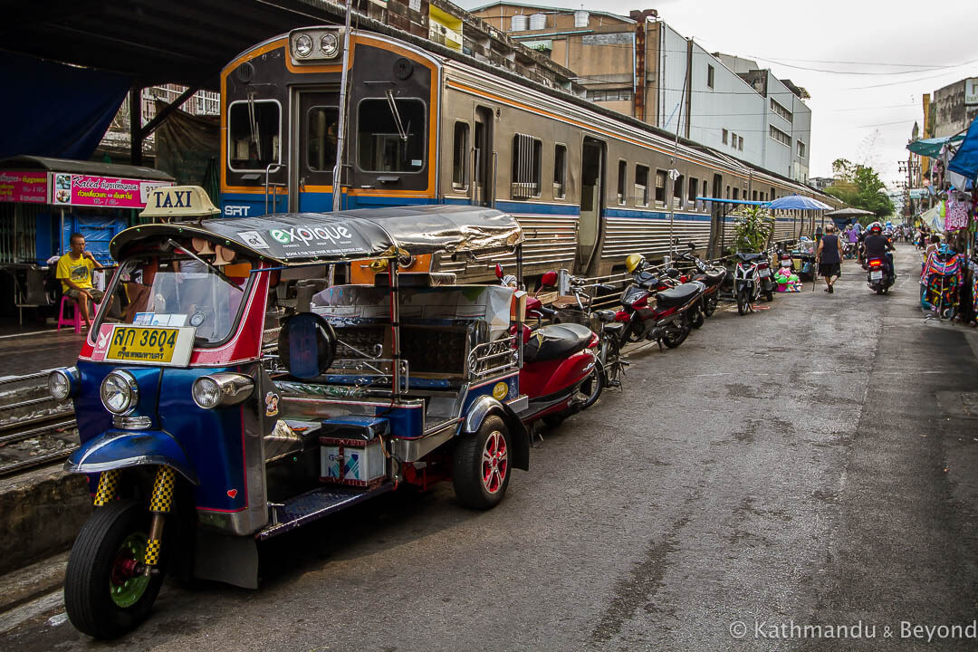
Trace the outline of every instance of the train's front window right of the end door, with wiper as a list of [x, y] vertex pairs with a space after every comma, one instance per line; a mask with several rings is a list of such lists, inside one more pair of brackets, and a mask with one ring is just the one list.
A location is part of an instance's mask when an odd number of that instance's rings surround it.
[[357, 162], [364, 172], [419, 172], [424, 167], [421, 100], [363, 100], [357, 132]]

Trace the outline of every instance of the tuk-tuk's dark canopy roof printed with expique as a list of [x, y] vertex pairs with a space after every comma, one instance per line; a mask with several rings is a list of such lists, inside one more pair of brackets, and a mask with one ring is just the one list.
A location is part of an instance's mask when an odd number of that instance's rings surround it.
[[287, 265], [392, 257], [394, 247], [417, 255], [511, 248], [523, 241], [519, 224], [508, 213], [424, 205], [143, 225], [112, 239], [112, 257], [118, 260], [129, 243], [155, 236], [212, 239]]

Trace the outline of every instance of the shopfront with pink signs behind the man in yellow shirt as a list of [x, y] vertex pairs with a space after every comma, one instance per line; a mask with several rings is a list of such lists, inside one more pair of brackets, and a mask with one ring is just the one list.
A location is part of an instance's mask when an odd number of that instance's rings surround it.
[[15, 156], [0, 160], [0, 316], [53, 305], [51, 261], [72, 233], [111, 264], [109, 242], [139, 222], [147, 195], [173, 177], [148, 167]]

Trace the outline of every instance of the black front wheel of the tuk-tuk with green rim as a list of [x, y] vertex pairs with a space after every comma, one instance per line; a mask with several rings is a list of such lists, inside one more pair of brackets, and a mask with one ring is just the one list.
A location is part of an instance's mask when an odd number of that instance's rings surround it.
[[150, 518], [142, 502], [113, 500], [82, 526], [65, 576], [65, 608], [77, 630], [114, 638], [150, 614], [163, 583], [162, 565], [150, 577], [140, 572]]

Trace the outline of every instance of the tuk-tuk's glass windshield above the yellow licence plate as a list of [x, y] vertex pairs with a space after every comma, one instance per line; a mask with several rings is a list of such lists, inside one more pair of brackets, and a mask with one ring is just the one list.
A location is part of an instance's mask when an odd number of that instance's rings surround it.
[[[251, 277], [250, 262], [219, 267], [180, 253], [142, 255], [122, 261], [106, 296], [117, 297], [123, 324], [194, 326], [196, 346], [213, 346], [231, 335]], [[96, 327], [116, 321], [100, 312]]]

